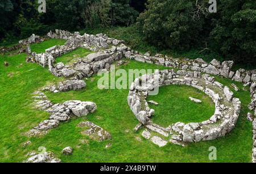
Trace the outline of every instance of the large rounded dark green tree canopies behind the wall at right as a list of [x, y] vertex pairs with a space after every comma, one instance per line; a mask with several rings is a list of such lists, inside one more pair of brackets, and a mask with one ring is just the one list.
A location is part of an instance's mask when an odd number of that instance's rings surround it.
[[212, 14], [209, 6], [206, 0], [148, 0], [138, 22], [152, 44], [183, 50], [206, 42], [225, 59], [255, 65], [256, 1], [220, 0]]

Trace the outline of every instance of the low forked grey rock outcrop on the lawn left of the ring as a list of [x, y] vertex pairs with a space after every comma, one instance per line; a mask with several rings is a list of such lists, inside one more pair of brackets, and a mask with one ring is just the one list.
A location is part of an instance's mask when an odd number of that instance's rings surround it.
[[65, 80], [64, 82], [58, 83], [56, 86], [43, 87], [42, 91], [34, 92], [32, 96], [34, 98], [33, 107], [46, 111], [51, 115], [48, 120], [40, 122], [38, 126], [28, 131], [26, 133], [28, 137], [45, 135], [48, 133], [48, 130], [56, 128], [59, 126], [60, 122], [69, 121], [72, 116], [82, 117], [95, 112], [97, 105], [93, 102], [72, 100], [53, 104], [44, 94], [44, 91], [76, 91], [85, 88], [85, 86], [84, 80]]

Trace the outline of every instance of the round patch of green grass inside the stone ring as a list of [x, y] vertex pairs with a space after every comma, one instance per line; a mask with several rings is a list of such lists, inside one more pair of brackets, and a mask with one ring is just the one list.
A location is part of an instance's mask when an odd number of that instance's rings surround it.
[[[203, 102], [196, 104], [188, 97], [195, 97]], [[153, 121], [164, 127], [176, 122], [187, 124], [208, 120], [214, 114], [215, 108], [210, 97], [189, 86], [164, 86], [159, 89], [158, 95], [150, 96], [147, 100], [154, 100], [159, 103], [157, 106], [151, 104], [150, 108], [155, 110]]]

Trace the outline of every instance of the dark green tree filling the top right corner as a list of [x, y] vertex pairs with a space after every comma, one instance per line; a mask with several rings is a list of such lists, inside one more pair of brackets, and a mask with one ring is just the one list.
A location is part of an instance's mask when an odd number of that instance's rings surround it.
[[219, 1], [210, 32], [212, 49], [238, 63], [256, 63], [256, 2]]

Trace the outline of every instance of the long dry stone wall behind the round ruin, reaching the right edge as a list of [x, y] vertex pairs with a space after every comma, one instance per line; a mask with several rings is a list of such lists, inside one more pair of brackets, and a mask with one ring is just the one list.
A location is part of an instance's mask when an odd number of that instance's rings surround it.
[[212, 60], [210, 63], [205, 62], [201, 58], [196, 60], [172, 58], [168, 56], [163, 56], [162, 54], [156, 54], [155, 56], [150, 56], [149, 53], [139, 54], [133, 50], [127, 51], [125, 54], [126, 58], [131, 60], [136, 60], [139, 62], [154, 63], [156, 65], [163, 65], [166, 67], [174, 67], [182, 70], [192, 70], [200, 71], [202, 73], [208, 73], [212, 75], [218, 75], [221, 77], [232, 79], [236, 82], [245, 83], [245, 86], [251, 85], [251, 104], [249, 108], [251, 111], [255, 111], [256, 116], [256, 70], [244, 70], [239, 69], [236, 72], [232, 71], [233, 61], [220, 62], [217, 60]]

